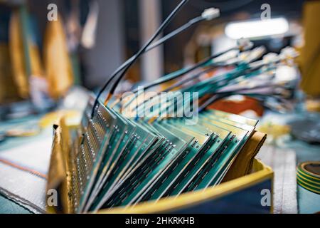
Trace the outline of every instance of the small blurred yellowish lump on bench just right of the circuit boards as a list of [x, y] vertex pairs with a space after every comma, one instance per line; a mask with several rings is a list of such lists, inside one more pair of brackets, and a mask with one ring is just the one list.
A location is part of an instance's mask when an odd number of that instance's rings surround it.
[[278, 125], [271, 122], [264, 123], [257, 129], [262, 133], [266, 133], [268, 137], [273, 138], [274, 140], [289, 134], [291, 131], [291, 128], [288, 125]]

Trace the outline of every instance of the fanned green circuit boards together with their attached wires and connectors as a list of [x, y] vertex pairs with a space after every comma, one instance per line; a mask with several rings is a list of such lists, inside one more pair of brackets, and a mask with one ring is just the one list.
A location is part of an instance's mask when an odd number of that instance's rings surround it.
[[[146, 45], [114, 72], [96, 97], [92, 95], [70, 152], [72, 185], [68, 197], [74, 212], [134, 207], [139, 202], [177, 197], [184, 192], [218, 185], [254, 132], [257, 120], [205, 110], [206, 105], [215, 96], [259, 90], [260, 83], [251, 87], [238, 83], [269, 73], [280, 62], [294, 57], [294, 52], [286, 49], [279, 56], [255, 61], [264, 49], [250, 51], [251, 43], [240, 41], [235, 48], [144, 86], [149, 90], [183, 77], [164, 90], [174, 91], [166, 93], [164, 103], [152, 105], [152, 100], [164, 92], [161, 90], [147, 99], [139, 89], [122, 96], [123, 99], [115, 97], [114, 90], [139, 56], [192, 24], [219, 15], [217, 9], [208, 9], [191, 23], [152, 44], [186, 2], [181, 1]], [[233, 68], [220, 76], [203, 79], [203, 73], [225, 66]], [[110, 91], [102, 103], [100, 97], [109, 86]], [[265, 85], [266, 88], [274, 86], [277, 85]], [[208, 98], [202, 101], [202, 111], [198, 113], [198, 108], [193, 107], [197, 101], [195, 96], [179, 100], [177, 93], [196, 93], [199, 98]], [[260, 95], [269, 93], [259, 92]], [[188, 107], [190, 115], [169, 118], [172, 113], [184, 113], [179, 110], [179, 104]], [[137, 115], [146, 109], [148, 116]], [[161, 113], [168, 115], [164, 118]]]

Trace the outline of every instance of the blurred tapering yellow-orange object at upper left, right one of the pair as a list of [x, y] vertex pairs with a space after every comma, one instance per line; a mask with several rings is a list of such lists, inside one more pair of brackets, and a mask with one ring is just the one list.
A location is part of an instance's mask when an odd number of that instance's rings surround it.
[[43, 50], [49, 95], [58, 99], [73, 85], [73, 69], [60, 16], [58, 21], [48, 22]]

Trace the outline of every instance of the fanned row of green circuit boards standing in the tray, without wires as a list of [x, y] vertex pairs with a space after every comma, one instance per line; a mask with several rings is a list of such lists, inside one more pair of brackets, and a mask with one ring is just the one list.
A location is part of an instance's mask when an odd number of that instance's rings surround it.
[[125, 118], [89, 102], [73, 142], [74, 212], [130, 207], [218, 185], [255, 130], [250, 120], [208, 110], [196, 125]]

